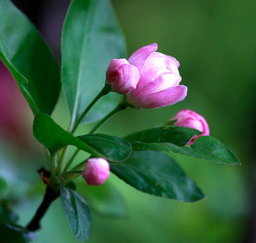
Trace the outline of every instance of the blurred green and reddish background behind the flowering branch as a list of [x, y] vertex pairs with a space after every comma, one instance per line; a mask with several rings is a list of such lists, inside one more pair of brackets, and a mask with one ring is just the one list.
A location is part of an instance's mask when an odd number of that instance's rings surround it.
[[[60, 62], [61, 28], [69, 0], [13, 2], [39, 28]], [[211, 136], [228, 145], [242, 165], [174, 155], [207, 195], [193, 204], [139, 193], [114, 175], [97, 189], [78, 181], [81, 194], [92, 203], [93, 231], [88, 243], [255, 243], [256, 1], [112, 3], [126, 37], [128, 56], [156, 42], [160, 52], [180, 61], [182, 84], [189, 92], [184, 101], [173, 106], [120, 112], [99, 132], [125, 136], [161, 125], [180, 109], [188, 108], [206, 118]], [[20, 216], [19, 223], [26, 225], [42, 198], [44, 188], [36, 169], [46, 166], [46, 161], [32, 136], [29, 107], [3, 67], [0, 94], [0, 174], [10, 184], [8, 193], [13, 202], [18, 189], [21, 203], [13, 203], [13, 208]], [[63, 96], [54, 119], [67, 127], [69, 116]], [[91, 126], [83, 125], [78, 134]], [[36, 243], [76, 242], [59, 199], [42, 220], [37, 237]]]

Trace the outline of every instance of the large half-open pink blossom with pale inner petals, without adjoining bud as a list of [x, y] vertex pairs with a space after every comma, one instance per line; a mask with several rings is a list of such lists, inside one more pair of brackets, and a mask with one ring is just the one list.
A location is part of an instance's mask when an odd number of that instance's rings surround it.
[[172, 56], [156, 52], [157, 44], [136, 50], [128, 62], [139, 71], [136, 89], [127, 94], [127, 102], [136, 108], [159, 108], [175, 104], [187, 96], [187, 87], [179, 85], [180, 63]]

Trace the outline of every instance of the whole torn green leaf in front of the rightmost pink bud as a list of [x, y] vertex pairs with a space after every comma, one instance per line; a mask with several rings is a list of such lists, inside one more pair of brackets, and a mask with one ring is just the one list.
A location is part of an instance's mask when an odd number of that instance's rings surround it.
[[193, 136], [200, 134], [192, 128], [159, 127], [130, 134], [125, 139], [131, 143], [133, 150], [175, 152], [222, 164], [240, 164], [235, 154], [213, 137], [198, 137], [187, 146]]

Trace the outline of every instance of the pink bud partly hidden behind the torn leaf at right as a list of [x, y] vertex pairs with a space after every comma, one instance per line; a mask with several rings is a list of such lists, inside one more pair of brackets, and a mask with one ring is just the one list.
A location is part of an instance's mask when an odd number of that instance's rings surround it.
[[[192, 110], [180, 110], [172, 119], [178, 119], [173, 126], [194, 128], [202, 132], [199, 136], [210, 135], [209, 126], [206, 120]], [[188, 145], [191, 145], [199, 136], [194, 136]]]

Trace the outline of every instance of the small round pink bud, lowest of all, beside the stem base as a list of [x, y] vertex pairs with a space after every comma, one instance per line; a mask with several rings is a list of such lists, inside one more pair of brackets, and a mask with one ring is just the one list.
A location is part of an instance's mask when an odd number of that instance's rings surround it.
[[109, 162], [104, 158], [88, 158], [82, 176], [88, 185], [102, 185], [109, 178]]

